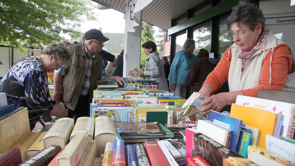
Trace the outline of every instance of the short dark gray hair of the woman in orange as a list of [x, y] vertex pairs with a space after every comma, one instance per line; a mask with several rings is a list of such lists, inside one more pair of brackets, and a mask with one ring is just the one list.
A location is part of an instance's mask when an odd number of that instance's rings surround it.
[[245, 23], [251, 31], [255, 29], [259, 23], [262, 24], [262, 30], [265, 26], [265, 18], [263, 16], [262, 11], [249, 2], [240, 1], [239, 4], [234, 6], [233, 11], [230, 13], [230, 16], [226, 19], [227, 30], [231, 31], [231, 23]]

